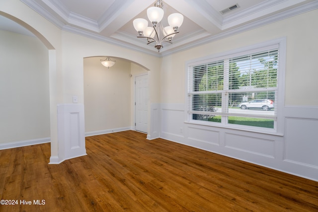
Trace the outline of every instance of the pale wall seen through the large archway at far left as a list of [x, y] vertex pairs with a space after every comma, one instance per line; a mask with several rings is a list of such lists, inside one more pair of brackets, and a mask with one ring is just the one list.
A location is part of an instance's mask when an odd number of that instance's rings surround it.
[[48, 50], [0, 30], [0, 143], [50, 137]]

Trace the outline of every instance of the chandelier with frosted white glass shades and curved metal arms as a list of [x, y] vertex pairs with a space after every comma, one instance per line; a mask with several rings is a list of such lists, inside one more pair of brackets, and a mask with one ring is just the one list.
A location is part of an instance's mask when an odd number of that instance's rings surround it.
[[172, 43], [172, 38], [176, 33], [179, 33], [178, 28], [183, 22], [183, 15], [180, 13], [172, 13], [168, 16], [169, 26], [163, 27], [161, 23], [164, 13], [162, 7], [162, 0], [157, 0], [154, 6], [147, 9], [147, 16], [153, 24], [153, 27], [149, 27], [148, 21], [144, 18], [136, 18], [133, 21], [134, 27], [139, 33], [137, 37], [147, 38], [147, 45], [156, 42], [155, 48], [158, 49], [158, 52], [160, 52], [160, 49], [163, 47], [163, 41]]

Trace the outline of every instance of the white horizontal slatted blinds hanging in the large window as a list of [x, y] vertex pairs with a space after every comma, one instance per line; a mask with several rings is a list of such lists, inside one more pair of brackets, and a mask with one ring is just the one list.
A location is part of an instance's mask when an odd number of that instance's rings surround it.
[[189, 67], [188, 113], [275, 119], [274, 112], [247, 112], [238, 105], [254, 99], [277, 100], [278, 63], [275, 46]]

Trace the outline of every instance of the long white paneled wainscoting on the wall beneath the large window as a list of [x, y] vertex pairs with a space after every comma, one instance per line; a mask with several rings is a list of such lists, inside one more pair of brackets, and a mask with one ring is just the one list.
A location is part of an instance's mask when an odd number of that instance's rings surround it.
[[185, 122], [183, 104], [161, 104], [160, 138], [318, 181], [318, 107], [284, 107], [285, 133]]

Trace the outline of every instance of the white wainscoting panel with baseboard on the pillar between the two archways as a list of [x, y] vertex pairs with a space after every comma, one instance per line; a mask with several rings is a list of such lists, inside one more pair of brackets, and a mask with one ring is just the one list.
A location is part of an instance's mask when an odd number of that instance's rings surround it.
[[86, 155], [83, 104], [60, 104], [58, 110], [58, 155], [50, 164]]

